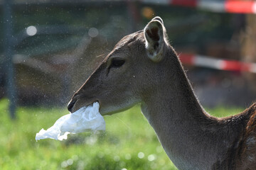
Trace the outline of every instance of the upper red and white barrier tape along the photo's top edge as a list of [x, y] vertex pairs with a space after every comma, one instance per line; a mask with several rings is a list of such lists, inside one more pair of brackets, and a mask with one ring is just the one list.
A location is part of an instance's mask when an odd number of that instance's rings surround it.
[[142, 2], [145, 4], [188, 6], [223, 13], [256, 13], [256, 1], [142, 0]]

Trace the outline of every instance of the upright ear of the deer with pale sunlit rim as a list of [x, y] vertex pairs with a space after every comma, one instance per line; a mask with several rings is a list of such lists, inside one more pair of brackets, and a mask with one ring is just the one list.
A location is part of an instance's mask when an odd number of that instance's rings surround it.
[[160, 62], [163, 58], [165, 28], [164, 22], [159, 17], [153, 18], [144, 28], [144, 38], [146, 40], [146, 53], [154, 62]]

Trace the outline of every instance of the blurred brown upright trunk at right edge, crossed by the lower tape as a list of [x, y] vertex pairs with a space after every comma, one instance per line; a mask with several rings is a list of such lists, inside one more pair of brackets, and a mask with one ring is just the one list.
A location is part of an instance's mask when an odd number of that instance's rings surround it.
[[[245, 32], [241, 36], [242, 60], [256, 63], [256, 15], [247, 14]], [[250, 88], [256, 92], [256, 74], [245, 73]]]

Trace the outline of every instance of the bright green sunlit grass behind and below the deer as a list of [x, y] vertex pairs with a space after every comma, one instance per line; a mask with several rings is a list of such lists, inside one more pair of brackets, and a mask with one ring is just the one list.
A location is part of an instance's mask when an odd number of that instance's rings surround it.
[[[211, 115], [226, 116], [240, 108], [215, 108]], [[36, 132], [50, 128], [63, 108], [27, 108], [10, 120], [8, 101], [0, 101], [0, 169], [176, 169], [162, 149], [139, 106], [105, 117], [106, 132], [69, 135], [68, 140], [39, 140]]]

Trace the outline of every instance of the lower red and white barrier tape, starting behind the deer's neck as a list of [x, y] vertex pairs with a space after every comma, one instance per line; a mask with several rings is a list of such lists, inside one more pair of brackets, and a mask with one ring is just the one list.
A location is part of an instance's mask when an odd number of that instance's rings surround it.
[[220, 60], [203, 55], [181, 54], [178, 56], [183, 64], [190, 64], [198, 67], [220, 69], [235, 72], [256, 73], [256, 63], [240, 62], [236, 60]]

